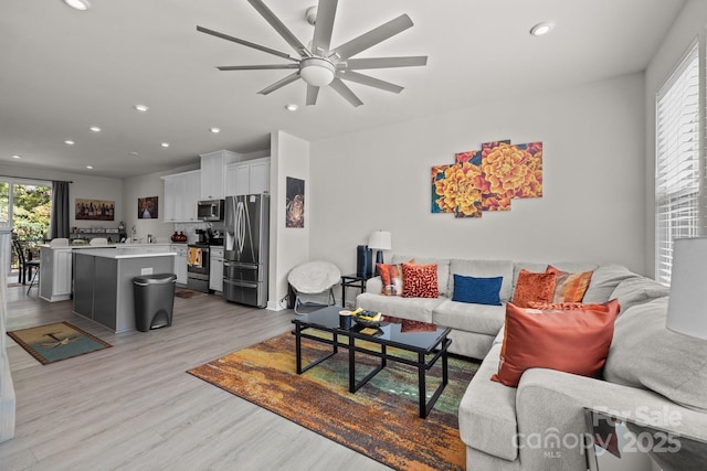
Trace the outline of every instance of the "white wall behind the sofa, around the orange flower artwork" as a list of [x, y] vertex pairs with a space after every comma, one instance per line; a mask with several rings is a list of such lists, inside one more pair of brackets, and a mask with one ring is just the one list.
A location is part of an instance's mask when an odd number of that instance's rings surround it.
[[[481, 218], [432, 214], [431, 167], [500, 139], [544, 142], [544, 197]], [[354, 272], [356, 246], [384, 229], [397, 254], [644, 272], [644, 142], [643, 74], [313, 142], [309, 256]]]

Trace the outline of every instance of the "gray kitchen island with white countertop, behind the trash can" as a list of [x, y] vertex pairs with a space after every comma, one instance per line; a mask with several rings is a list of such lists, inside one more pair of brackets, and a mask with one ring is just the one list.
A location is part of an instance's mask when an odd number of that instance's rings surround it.
[[135, 330], [133, 278], [173, 274], [173, 251], [74, 250], [74, 313], [113, 332]]

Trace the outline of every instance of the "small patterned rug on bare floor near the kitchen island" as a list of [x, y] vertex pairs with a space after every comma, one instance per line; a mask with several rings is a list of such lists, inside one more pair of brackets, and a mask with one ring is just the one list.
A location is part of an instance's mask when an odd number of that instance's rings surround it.
[[8, 332], [8, 335], [43, 365], [110, 346], [65, 321], [15, 330]]

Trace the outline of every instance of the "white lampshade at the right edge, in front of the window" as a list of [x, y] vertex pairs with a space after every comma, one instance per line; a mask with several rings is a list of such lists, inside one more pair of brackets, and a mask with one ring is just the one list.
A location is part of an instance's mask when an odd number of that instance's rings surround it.
[[675, 239], [666, 321], [669, 330], [707, 340], [705, 288], [707, 237]]

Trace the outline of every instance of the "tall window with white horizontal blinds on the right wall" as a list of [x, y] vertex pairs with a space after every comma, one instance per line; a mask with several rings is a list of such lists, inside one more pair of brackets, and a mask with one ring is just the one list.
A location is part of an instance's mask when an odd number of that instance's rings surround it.
[[699, 56], [695, 44], [656, 97], [655, 278], [668, 285], [673, 240], [700, 234]]

